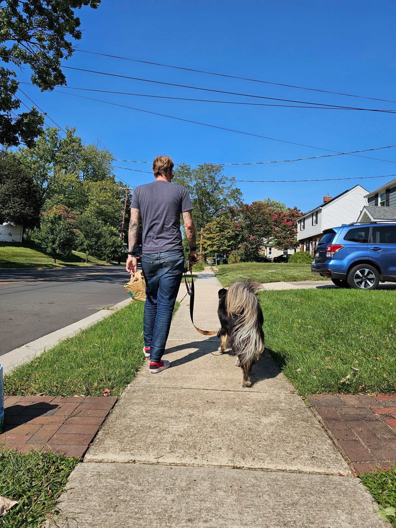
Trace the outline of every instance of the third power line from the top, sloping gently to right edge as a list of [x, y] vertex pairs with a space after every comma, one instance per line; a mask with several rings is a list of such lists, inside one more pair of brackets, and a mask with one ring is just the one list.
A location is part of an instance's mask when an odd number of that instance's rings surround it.
[[[27, 84], [29, 86], [35, 86], [31, 82], [22, 82], [22, 81], [20, 81], [20, 84]], [[51, 86], [51, 85], [50, 84], [45, 84], [44, 86]], [[388, 114], [396, 114], [396, 110], [380, 110], [380, 109], [375, 109], [375, 108], [357, 108], [357, 107], [346, 107], [346, 106], [336, 106], [336, 105], [325, 105], [325, 103], [323, 103], [323, 106], [318, 106], [319, 103], [314, 103], [316, 106], [275, 105], [275, 104], [271, 104], [271, 103], [257, 103], [257, 102], [243, 102], [243, 101], [218, 101], [218, 100], [213, 100], [213, 99], [193, 99], [193, 98], [188, 98], [188, 97], [155, 96], [155, 95], [149, 95], [147, 93], [118, 92], [118, 91], [114, 91], [114, 90], [98, 90], [98, 89], [94, 89], [94, 88], [80, 88], [80, 87], [73, 87], [73, 86], [64, 86], [62, 88], [67, 88], [68, 90], [83, 90], [83, 91], [89, 91], [89, 92], [114, 93], [116, 95], [124, 95], [124, 96], [150, 97], [150, 98], [154, 98], [154, 99], [172, 99], [172, 100], [176, 100], [176, 101], [214, 102], [214, 103], [222, 103], [222, 104], [227, 104], [227, 105], [266, 106], [266, 107], [277, 107], [277, 108], [310, 108], [310, 109], [318, 109], [318, 110], [362, 110], [362, 111], [385, 112], [385, 113], [388, 113]], [[283, 99], [280, 99], [280, 100], [283, 100]]]

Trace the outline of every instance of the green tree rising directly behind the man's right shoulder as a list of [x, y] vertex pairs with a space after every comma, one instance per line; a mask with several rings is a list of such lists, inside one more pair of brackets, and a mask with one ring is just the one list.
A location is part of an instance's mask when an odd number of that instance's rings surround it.
[[183, 185], [190, 194], [197, 232], [203, 231], [207, 223], [219, 216], [220, 211], [238, 205], [242, 200], [242, 193], [235, 186], [234, 178], [224, 176], [222, 165], [204, 163], [191, 168], [181, 164], [174, 170], [173, 182]]

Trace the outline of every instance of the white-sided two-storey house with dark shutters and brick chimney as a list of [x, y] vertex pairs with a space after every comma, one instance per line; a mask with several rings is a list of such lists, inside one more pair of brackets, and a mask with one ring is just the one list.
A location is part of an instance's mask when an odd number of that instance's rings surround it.
[[334, 198], [324, 196], [323, 203], [297, 220], [300, 250], [313, 253], [325, 229], [356, 222], [367, 205], [367, 192], [361, 185], [355, 185]]

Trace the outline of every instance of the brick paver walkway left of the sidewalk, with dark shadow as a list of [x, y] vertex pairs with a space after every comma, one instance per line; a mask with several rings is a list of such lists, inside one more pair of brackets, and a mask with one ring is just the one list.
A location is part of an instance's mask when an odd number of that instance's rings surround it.
[[0, 448], [82, 457], [117, 398], [6, 396]]

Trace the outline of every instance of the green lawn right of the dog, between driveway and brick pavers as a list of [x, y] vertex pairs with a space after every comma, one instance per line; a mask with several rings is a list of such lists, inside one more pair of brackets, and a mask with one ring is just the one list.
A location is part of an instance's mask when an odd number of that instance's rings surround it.
[[266, 346], [300, 394], [396, 392], [394, 291], [262, 291]]

